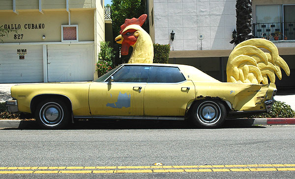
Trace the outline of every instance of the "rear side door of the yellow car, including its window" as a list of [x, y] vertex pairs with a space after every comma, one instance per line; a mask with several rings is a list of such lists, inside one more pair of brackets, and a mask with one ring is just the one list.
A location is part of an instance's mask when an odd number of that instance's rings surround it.
[[193, 82], [177, 67], [151, 67], [144, 96], [146, 116], [184, 116], [187, 104], [194, 99]]

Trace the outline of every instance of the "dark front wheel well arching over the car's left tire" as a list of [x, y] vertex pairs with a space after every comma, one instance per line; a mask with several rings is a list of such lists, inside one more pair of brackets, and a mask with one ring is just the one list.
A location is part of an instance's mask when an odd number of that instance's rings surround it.
[[35, 113], [35, 109], [36, 109], [36, 105], [41, 102], [42, 100], [45, 99], [59, 99], [62, 100], [63, 102], [66, 102], [66, 104], [68, 106], [70, 106], [70, 109], [72, 109], [72, 102], [70, 101], [70, 99], [66, 96], [63, 95], [56, 95], [56, 94], [44, 94], [44, 95], [37, 95], [35, 96], [31, 103], [30, 103], [30, 109], [31, 109], [31, 113], [34, 114]]

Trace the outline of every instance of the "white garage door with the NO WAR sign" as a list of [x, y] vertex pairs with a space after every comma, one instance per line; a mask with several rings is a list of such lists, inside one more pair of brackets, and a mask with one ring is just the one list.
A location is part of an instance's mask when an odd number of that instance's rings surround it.
[[0, 47], [0, 83], [19, 82], [43, 82], [42, 46]]

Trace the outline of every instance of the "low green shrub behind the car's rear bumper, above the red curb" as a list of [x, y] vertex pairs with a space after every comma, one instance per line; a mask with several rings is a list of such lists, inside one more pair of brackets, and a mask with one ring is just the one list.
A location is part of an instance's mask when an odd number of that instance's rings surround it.
[[274, 102], [269, 113], [252, 115], [249, 118], [294, 118], [295, 111], [285, 102]]

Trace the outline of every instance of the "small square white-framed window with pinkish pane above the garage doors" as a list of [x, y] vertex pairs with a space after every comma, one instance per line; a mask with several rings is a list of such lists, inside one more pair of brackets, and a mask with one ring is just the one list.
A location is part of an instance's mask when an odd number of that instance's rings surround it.
[[78, 25], [62, 25], [61, 42], [78, 42]]

